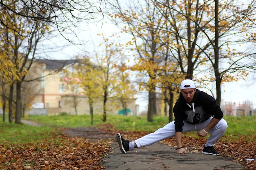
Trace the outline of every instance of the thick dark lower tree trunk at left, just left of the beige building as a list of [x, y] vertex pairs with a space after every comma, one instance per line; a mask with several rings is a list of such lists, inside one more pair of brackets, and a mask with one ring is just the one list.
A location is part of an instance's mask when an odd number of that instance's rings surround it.
[[17, 81], [15, 123], [20, 124], [20, 122], [21, 122], [21, 82]]

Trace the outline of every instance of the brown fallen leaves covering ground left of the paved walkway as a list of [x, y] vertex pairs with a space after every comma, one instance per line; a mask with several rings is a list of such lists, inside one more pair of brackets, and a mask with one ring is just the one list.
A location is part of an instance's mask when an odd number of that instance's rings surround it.
[[90, 142], [79, 137], [61, 136], [61, 140], [33, 144], [1, 145], [1, 169], [7, 170], [103, 170], [101, 159], [110, 148], [107, 141]]

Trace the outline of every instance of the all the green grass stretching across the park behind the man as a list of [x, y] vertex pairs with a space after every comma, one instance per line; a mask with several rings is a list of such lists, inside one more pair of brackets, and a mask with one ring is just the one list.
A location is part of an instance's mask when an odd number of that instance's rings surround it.
[[[153, 132], [168, 122], [168, 117], [155, 116], [153, 122], [147, 122], [146, 116], [107, 115], [107, 121], [102, 121], [102, 115], [94, 115], [94, 125], [112, 124], [118, 130], [135, 130]], [[0, 121], [0, 144], [40, 143], [41, 140], [52, 139], [59, 128], [91, 126], [90, 115], [56, 115], [56, 116], [29, 116], [25, 119], [34, 121], [43, 126], [29, 126]], [[254, 141], [256, 138], [256, 116], [233, 117], [225, 116], [228, 123], [225, 140], [239, 139]], [[191, 132], [188, 135], [194, 135]]]

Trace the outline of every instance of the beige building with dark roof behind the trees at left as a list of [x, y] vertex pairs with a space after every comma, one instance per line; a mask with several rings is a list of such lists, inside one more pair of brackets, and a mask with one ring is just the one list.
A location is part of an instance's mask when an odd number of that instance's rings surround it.
[[[71, 73], [74, 72], [74, 68], [72, 67], [76, 64], [78, 60], [37, 60], [33, 68], [31, 68], [29, 72], [29, 77], [43, 77], [38, 82], [33, 82], [36, 84], [34, 94], [34, 100], [32, 105], [37, 104], [39, 106], [43, 106], [47, 110], [47, 115], [56, 115], [60, 113], [68, 113], [68, 114], [76, 114], [77, 115], [89, 115], [90, 107], [88, 104], [88, 98], [83, 95], [82, 88], [77, 86], [76, 91], [78, 91], [78, 95], [76, 95], [74, 99], [74, 95], [71, 91], [65, 88], [65, 83], [63, 80], [68, 79], [64, 76], [63, 70]], [[115, 100], [115, 102], [113, 101]], [[74, 107], [74, 101], [76, 102], [76, 110]], [[114, 105], [113, 105], [114, 103]], [[109, 99], [107, 108], [107, 114], [117, 115], [120, 114], [120, 110], [122, 110], [121, 102], [118, 99]], [[33, 107], [32, 107], [33, 108]], [[135, 99], [128, 102], [128, 110], [130, 110], [129, 114], [136, 114], [135, 109]], [[32, 109], [34, 112], [39, 109]], [[29, 113], [31, 113], [29, 111]], [[94, 104], [94, 114], [102, 114], [103, 112], [103, 102], [99, 102]]]

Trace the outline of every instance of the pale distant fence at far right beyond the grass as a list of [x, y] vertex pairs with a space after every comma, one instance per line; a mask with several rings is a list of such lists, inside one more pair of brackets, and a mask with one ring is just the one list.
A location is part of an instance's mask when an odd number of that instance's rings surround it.
[[251, 116], [254, 115], [252, 102], [242, 104], [233, 102], [222, 102], [221, 109], [224, 115]]

